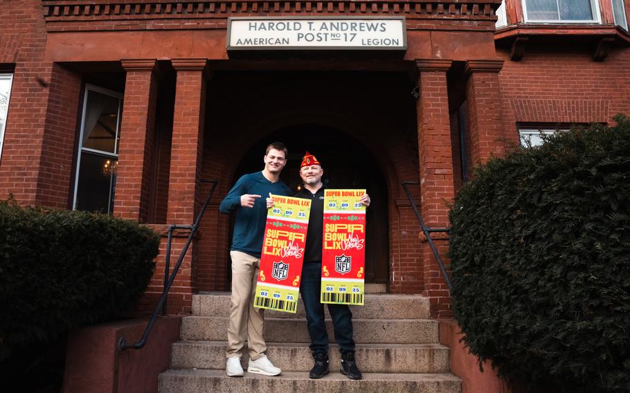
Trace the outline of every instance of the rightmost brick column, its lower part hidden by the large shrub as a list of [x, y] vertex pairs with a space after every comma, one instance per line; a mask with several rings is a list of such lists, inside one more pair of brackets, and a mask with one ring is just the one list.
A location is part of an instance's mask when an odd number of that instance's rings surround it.
[[465, 73], [470, 160], [485, 163], [492, 154], [505, 152], [498, 73], [503, 60], [469, 60]]

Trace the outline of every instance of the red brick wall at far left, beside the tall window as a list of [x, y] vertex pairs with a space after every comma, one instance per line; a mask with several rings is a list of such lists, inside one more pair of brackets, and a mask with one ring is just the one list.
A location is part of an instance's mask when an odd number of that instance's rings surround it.
[[0, 198], [68, 206], [80, 79], [44, 61], [41, 1], [2, 1], [0, 64], [15, 65], [2, 158]]

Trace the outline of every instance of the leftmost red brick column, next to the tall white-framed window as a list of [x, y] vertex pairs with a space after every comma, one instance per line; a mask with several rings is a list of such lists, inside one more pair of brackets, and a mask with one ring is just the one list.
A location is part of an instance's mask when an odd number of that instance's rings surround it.
[[123, 60], [127, 71], [120, 124], [114, 214], [147, 222], [158, 82], [156, 61]]

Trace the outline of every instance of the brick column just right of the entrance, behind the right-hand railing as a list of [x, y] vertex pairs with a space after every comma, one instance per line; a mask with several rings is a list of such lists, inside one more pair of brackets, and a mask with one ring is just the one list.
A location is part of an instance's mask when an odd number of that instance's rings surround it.
[[[449, 226], [449, 208], [446, 201], [453, 199], [453, 154], [451, 151], [451, 125], [447, 71], [450, 60], [416, 60], [420, 73], [417, 101], [418, 154], [420, 164], [420, 212], [429, 228]], [[444, 236], [433, 239], [442, 256], [448, 244]], [[422, 239], [422, 236], [421, 236]], [[438, 262], [426, 239], [422, 239], [424, 267], [424, 294], [431, 298], [431, 316], [450, 316], [451, 297]], [[442, 259], [445, 263], [447, 260]]]

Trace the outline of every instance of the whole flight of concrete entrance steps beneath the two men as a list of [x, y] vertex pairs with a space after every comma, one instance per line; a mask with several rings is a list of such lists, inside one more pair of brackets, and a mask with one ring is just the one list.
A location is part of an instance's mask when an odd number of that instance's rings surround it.
[[[231, 378], [225, 374], [230, 293], [193, 295], [192, 315], [182, 318], [181, 341], [172, 345], [170, 369], [160, 376], [159, 392], [461, 392], [460, 379], [449, 374], [449, 349], [438, 343], [438, 322], [429, 319], [427, 298], [368, 293], [365, 300], [365, 306], [351, 307], [363, 380], [339, 374], [341, 358], [328, 314], [331, 374], [308, 378], [313, 363], [301, 300], [296, 314], [265, 311], [267, 355], [282, 374], [245, 372], [244, 378]], [[245, 348], [245, 370], [248, 361]]]

